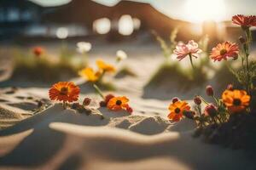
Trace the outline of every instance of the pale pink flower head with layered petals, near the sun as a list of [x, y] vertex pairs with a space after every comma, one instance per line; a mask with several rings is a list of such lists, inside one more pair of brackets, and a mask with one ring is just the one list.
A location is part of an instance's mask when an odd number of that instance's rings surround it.
[[177, 54], [177, 59], [179, 60], [185, 58], [187, 55], [197, 58], [198, 54], [201, 53], [201, 49], [198, 48], [198, 44], [194, 40], [190, 40], [187, 44], [183, 42], [177, 44], [173, 53]]

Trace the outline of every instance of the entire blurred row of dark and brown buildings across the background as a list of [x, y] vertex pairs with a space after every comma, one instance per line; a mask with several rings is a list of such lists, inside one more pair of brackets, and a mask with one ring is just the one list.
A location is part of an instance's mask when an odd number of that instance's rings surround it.
[[42, 7], [29, 0], [0, 0], [0, 39], [17, 35], [56, 37], [60, 27], [67, 28], [68, 37], [105, 35], [108, 40], [134, 38], [152, 31], [168, 39], [178, 28], [177, 39], [199, 40], [207, 34], [212, 42], [232, 37], [230, 30], [238, 30], [225, 22], [200, 25], [174, 20], [149, 3], [128, 0], [112, 7], [91, 0], [73, 0], [56, 7]]

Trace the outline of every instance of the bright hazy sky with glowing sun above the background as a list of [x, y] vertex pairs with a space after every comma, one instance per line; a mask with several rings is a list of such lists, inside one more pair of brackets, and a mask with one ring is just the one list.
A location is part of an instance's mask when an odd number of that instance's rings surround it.
[[[68, 3], [71, 0], [32, 0], [45, 6]], [[112, 6], [119, 0], [94, 0]], [[256, 14], [256, 0], [134, 0], [151, 3], [160, 12], [179, 20], [230, 20], [234, 14]]]

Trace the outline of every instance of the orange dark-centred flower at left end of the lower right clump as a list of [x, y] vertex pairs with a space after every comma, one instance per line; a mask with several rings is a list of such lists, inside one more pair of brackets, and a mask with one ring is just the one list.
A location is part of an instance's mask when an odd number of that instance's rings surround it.
[[168, 115], [168, 118], [171, 119], [174, 122], [178, 122], [183, 117], [183, 111], [189, 111], [190, 106], [186, 101], [178, 100], [175, 103], [172, 103], [169, 106], [170, 114]]

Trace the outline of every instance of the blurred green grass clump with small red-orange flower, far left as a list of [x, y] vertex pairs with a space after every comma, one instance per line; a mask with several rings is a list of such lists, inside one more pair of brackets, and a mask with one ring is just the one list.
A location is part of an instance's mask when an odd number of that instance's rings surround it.
[[[72, 58], [65, 62], [61, 59], [51, 59], [43, 47], [32, 48], [31, 53], [20, 50], [17, 52], [14, 54], [14, 71], [11, 81], [28, 79], [33, 82], [44, 80], [44, 82], [52, 83], [56, 80], [64, 81], [75, 77], [79, 70], [79, 66], [73, 65]], [[41, 78], [38, 79], [38, 77]]]

